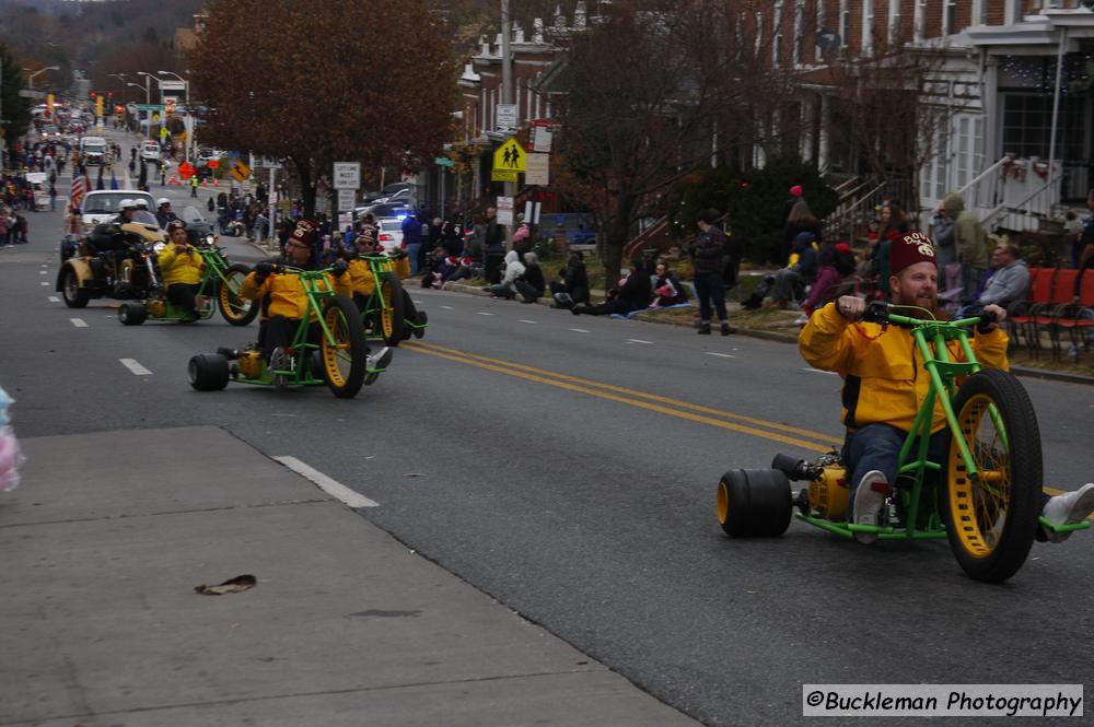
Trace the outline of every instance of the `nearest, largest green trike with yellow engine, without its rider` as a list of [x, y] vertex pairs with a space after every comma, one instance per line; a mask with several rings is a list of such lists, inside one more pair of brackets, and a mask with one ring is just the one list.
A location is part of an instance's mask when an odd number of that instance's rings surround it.
[[[1067, 532], [1090, 524], [1054, 525], [1039, 516], [1037, 417], [1014, 376], [982, 368], [977, 362], [967, 329], [988, 323], [986, 317], [921, 319], [892, 313], [897, 307], [872, 303], [865, 320], [907, 328], [931, 386], [900, 448], [896, 486], [883, 521], [848, 521], [849, 473], [842, 470], [837, 453], [816, 465], [780, 455], [771, 470], [726, 472], [719, 483], [718, 519], [734, 537], [781, 535], [796, 506], [799, 519], [845, 538], [866, 532], [888, 540], [948, 539], [969, 576], [1005, 581], [1025, 562], [1038, 525]], [[947, 345], [952, 341], [957, 342], [964, 361], [952, 359]], [[964, 380], [958, 385], [958, 379]], [[936, 403], [945, 413], [943, 431], [948, 435], [943, 462], [928, 456]], [[831, 476], [834, 469], [839, 478]], [[789, 480], [812, 484], [792, 499]], [[840, 505], [834, 507], [835, 501]]]

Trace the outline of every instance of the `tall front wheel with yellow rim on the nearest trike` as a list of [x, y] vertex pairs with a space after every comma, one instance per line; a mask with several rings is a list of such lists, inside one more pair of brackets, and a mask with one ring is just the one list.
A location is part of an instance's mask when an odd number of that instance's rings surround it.
[[998, 368], [981, 370], [962, 385], [954, 413], [977, 477], [968, 476], [952, 437], [942, 503], [946, 537], [965, 573], [1000, 583], [1022, 567], [1037, 530], [1037, 414], [1017, 379]]

